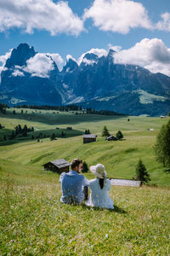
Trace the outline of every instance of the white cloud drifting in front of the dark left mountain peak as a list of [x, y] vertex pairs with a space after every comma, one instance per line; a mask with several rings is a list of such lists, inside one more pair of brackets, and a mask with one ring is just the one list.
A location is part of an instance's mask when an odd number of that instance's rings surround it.
[[54, 61], [58, 66], [63, 62], [63, 59], [59, 54], [37, 53], [26, 61], [26, 67], [23, 67], [23, 70], [31, 73], [31, 76], [48, 78], [49, 72], [54, 70]]

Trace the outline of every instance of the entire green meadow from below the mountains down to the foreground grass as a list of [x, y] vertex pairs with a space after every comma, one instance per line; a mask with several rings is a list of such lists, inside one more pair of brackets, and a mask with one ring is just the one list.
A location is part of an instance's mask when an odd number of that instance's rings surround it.
[[[0, 114], [0, 255], [170, 254], [170, 172], [156, 161], [153, 150], [169, 118], [23, 111], [9, 108]], [[3, 141], [19, 124], [34, 131]], [[121, 130], [123, 140], [105, 141], [104, 125], [113, 135]], [[87, 129], [97, 134], [96, 143], [82, 143]], [[41, 142], [31, 139], [40, 132], [46, 134]], [[53, 132], [57, 140], [50, 141]], [[151, 181], [141, 188], [112, 186], [113, 211], [62, 205], [59, 174], [44, 171], [42, 165], [76, 157], [88, 166], [104, 164], [108, 177], [125, 178], [133, 178], [141, 158]], [[89, 172], [85, 176], [94, 178]]]

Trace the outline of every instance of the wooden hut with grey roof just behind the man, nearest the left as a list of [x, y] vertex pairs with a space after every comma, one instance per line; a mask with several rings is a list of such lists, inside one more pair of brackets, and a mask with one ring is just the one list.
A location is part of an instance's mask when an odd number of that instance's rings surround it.
[[50, 161], [42, 166], [44, 167], [44, 170], [61, 173], [61, 172], [69, 172], [70, 163], [67, 162], [65, 159], [59, 159], [59, 160]]

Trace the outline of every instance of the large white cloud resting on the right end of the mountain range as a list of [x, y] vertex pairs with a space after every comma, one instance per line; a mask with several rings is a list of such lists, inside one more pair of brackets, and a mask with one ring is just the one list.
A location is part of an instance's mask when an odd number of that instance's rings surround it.
[[145, 67], [152, 73], [170, 76], [170, 49], [158, 38], [144, 38], [130, 49], [122, 49], [114, 55], [115, 63]]

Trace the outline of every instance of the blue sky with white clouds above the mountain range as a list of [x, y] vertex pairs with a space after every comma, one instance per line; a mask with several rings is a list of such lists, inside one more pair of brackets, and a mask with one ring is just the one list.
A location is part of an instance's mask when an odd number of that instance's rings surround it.
[[170, 3], [1, 0], [1, 65], [9, 49], [20, 43], [33, 46], [39, 53], [55, 54], [60, 68], [66, 55], [78, 59], [90, 49], [103, 49], [105, 53], [112, 48], [117, 51], [116, 63], [137, 64], [170, 76]]

